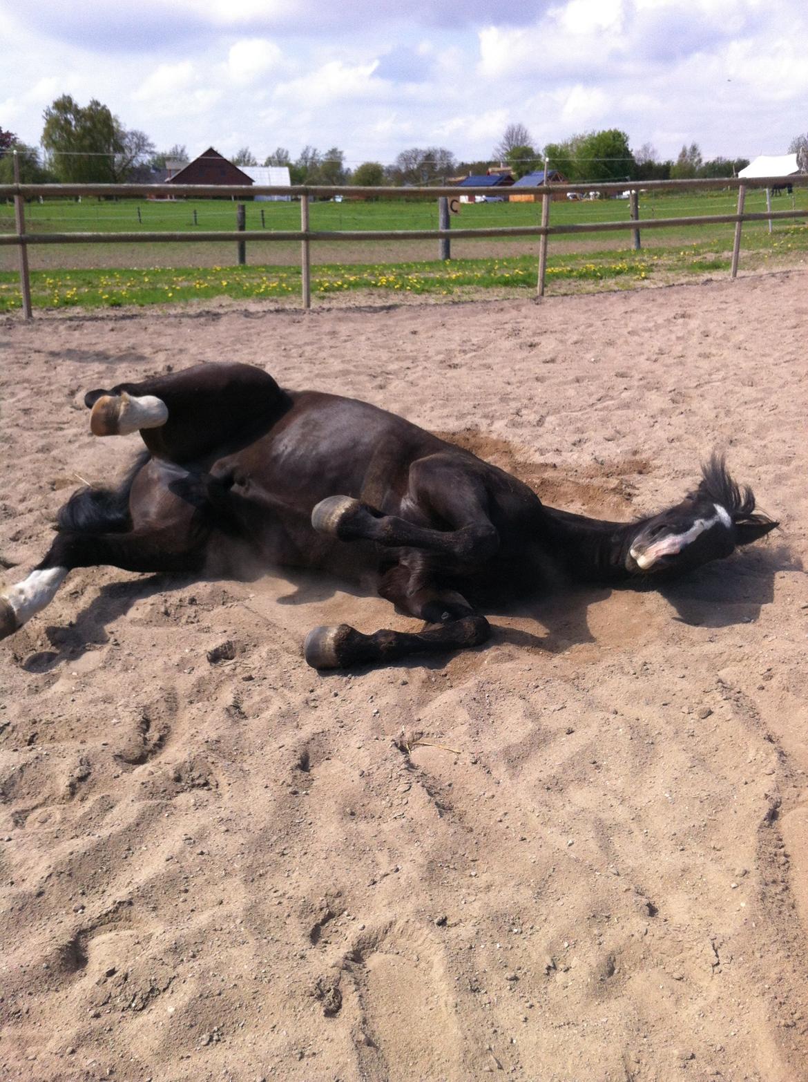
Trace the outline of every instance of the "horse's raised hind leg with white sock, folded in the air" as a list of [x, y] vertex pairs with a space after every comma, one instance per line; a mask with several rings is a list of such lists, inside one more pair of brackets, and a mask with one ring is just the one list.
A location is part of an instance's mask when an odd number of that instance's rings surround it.
[[268, 427], [290, 399], [262, 369], [222, 364], [90, 391], [84, 404], [92, 410], [94, 435], [140, 431], [156, 458], [189, 462], [260, 425]]

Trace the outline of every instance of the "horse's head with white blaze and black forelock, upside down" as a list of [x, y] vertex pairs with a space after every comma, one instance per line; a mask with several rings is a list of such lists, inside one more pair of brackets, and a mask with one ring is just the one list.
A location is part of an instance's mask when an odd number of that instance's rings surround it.
[[625, 557], [635, 575], [679, 573], [724, 559], [779, 524], [755, 512], [750, 488], [739, 488], [723, 457], [702, 466], [702, 479], [681, 503], [638, 524]]

